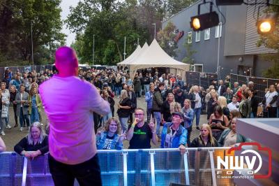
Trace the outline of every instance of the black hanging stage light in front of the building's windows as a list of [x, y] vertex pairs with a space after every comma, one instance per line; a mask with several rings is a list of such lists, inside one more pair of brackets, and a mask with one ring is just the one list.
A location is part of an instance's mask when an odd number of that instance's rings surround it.
[[191, 17], [190, 27], [193, 31], [200, 31], [215, 27], [219, 24], [219, 17], [216, 12], [204, 13]]

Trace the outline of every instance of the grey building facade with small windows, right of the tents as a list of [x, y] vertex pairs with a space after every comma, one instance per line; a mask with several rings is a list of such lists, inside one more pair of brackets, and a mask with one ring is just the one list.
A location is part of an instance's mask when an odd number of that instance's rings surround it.
[[[275, 51], [263, 46], [257, 47], [257, 41], [259, 41], [256, 27], [257, 7], [219, 6], [221, 13], [213, 7], [213, 10], [220, 15], [222, 25], [203, 31], [193, 31], [190, 28], [190, 17], [197, 15], [197, 6], [201, 2], [197, 1], [163, 21], [163, 28], [167, 22], [173, 22], [178, 35], [181, 36], [183, 31], [183, 36], [177, 37], [179, 40], [175, 58], [182, 61], [186, 57], [187, 51], [183, 44], [188, 43], [191, 50], [195, 51], [191, 57], [194, 62], [194, 71], [216, 73], [219, 69], [221, 78], [229, 73], [261, 77], [262, 71], [269, 68], [272, 63], [264, 61], [260, 55]], [[254, 10], [256, 10], [255, 13]], [[208, 5], [201, 6], [201, 13], [208, 12]]]

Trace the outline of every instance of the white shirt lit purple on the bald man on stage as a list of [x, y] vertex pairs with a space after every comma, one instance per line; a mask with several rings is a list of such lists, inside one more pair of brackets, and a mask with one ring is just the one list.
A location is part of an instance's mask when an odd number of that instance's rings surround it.
[[64, 164], [80, 164], [96, 155], [93, 112], [110, 113], [110, 103], [96, 87], [76, 76], [53, 76], [40, 85], [50, 120], [50, 155]]

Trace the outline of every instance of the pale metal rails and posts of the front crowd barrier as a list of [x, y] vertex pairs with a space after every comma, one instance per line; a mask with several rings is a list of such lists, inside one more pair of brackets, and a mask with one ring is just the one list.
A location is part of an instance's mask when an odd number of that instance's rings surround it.
[[[212, 185], [216, 186], [217, 181], [216, 181], [216, 168], [214, 166], [214, 155], [213, 152], [215, 150], [229, 150], [229, 147], [227, 148], [186, 148], [186, 153], [181, 157], [183, 159], [183, 168], [182, 169], [167, 169], [167, 170], [156, 170], [155, 169], [155, 155], [156, 152], [178, 152], [178, 148], [154, 148], [154, 149], [142, 149], [142, 150], [98, 150], [98, 154], [107, 154], [107, 153], [121, 153], [122, 155], [122, 160], [123, 160], [123, 171], [112, 171], [109, 173], [102, 173], [103, 175], [111, 175], [112, 173], [115, 173], [117, 175], [123, 174], [123, 185], [128, 186], [128, 173], [136, 173], [137, 171], [130, 171], [128, 172], [128, 154], [129, 153], [135, 153], [135, 152], [149, 152], [149, 160], [150, 160], [150, 170], [140, 170], [140, 173], [151, 173], [151, 185], [155, 186], [156, 185], [156, 173], [181, 173], [181, 171], [184, 171], [185, 173], [185, 183], [186, 185], [190, 185], [190, 177], [189, 177], [189, 172], [194, 172], [195, 171], [195, 185], [200, 184], [199, 180], [199, 173], [200, 171], [202, 172], [211, 172], [212, 176]], [[207, 151], [209, 153], [209, 158], [210, 158], [210, 170], [209, 169], [201, 169], [199, 167], [200, 165], [200, 153], [201, 152]], [[189, 162], [188, 162], [188, 157], [190, 159], [189, 153], [190, 152], [195, 152], [195, 169], [189, 169]], [[11, 154], [15, 155], [15, 152], [2, 152], [1, 154]], [[1, 155], [0, 154], [0, 155]], [[15, 159], [15, 156], [11, 156], [11, 158]], [[46, 162], [47, 156], [43, 159], [44, 162]], [[22, 186], [27, 185], [27, 177], [51, 177], [50, 173], [27, 173], [28, 170], [28, 162], [30, 160], [26, 157], [24, 157], [24, 164], [23, 164], [23, 171], [22, 171]], [[15, 162], [15, 161], [12, 161]], [[136, 162], [137, 163], [137, 162]], [[13, 165], [15, 166], [15, 165]], [[184, 169], [184, 170], [183, 170]], [[147, 171], [147, 172], [146, 172]], [[3, 175], [2, 175], [3, 176]], [[15, 175], [11, 175], [15, 176]], [[18, 177], [20, 175], [17, 175], [15, 177]], [[150, 177], [149, 177], [150, 178]], [[135, 185], [140, 185], [139, 180], [135, 179]], [[11, 183], [14, 185], [14, 183]]]

